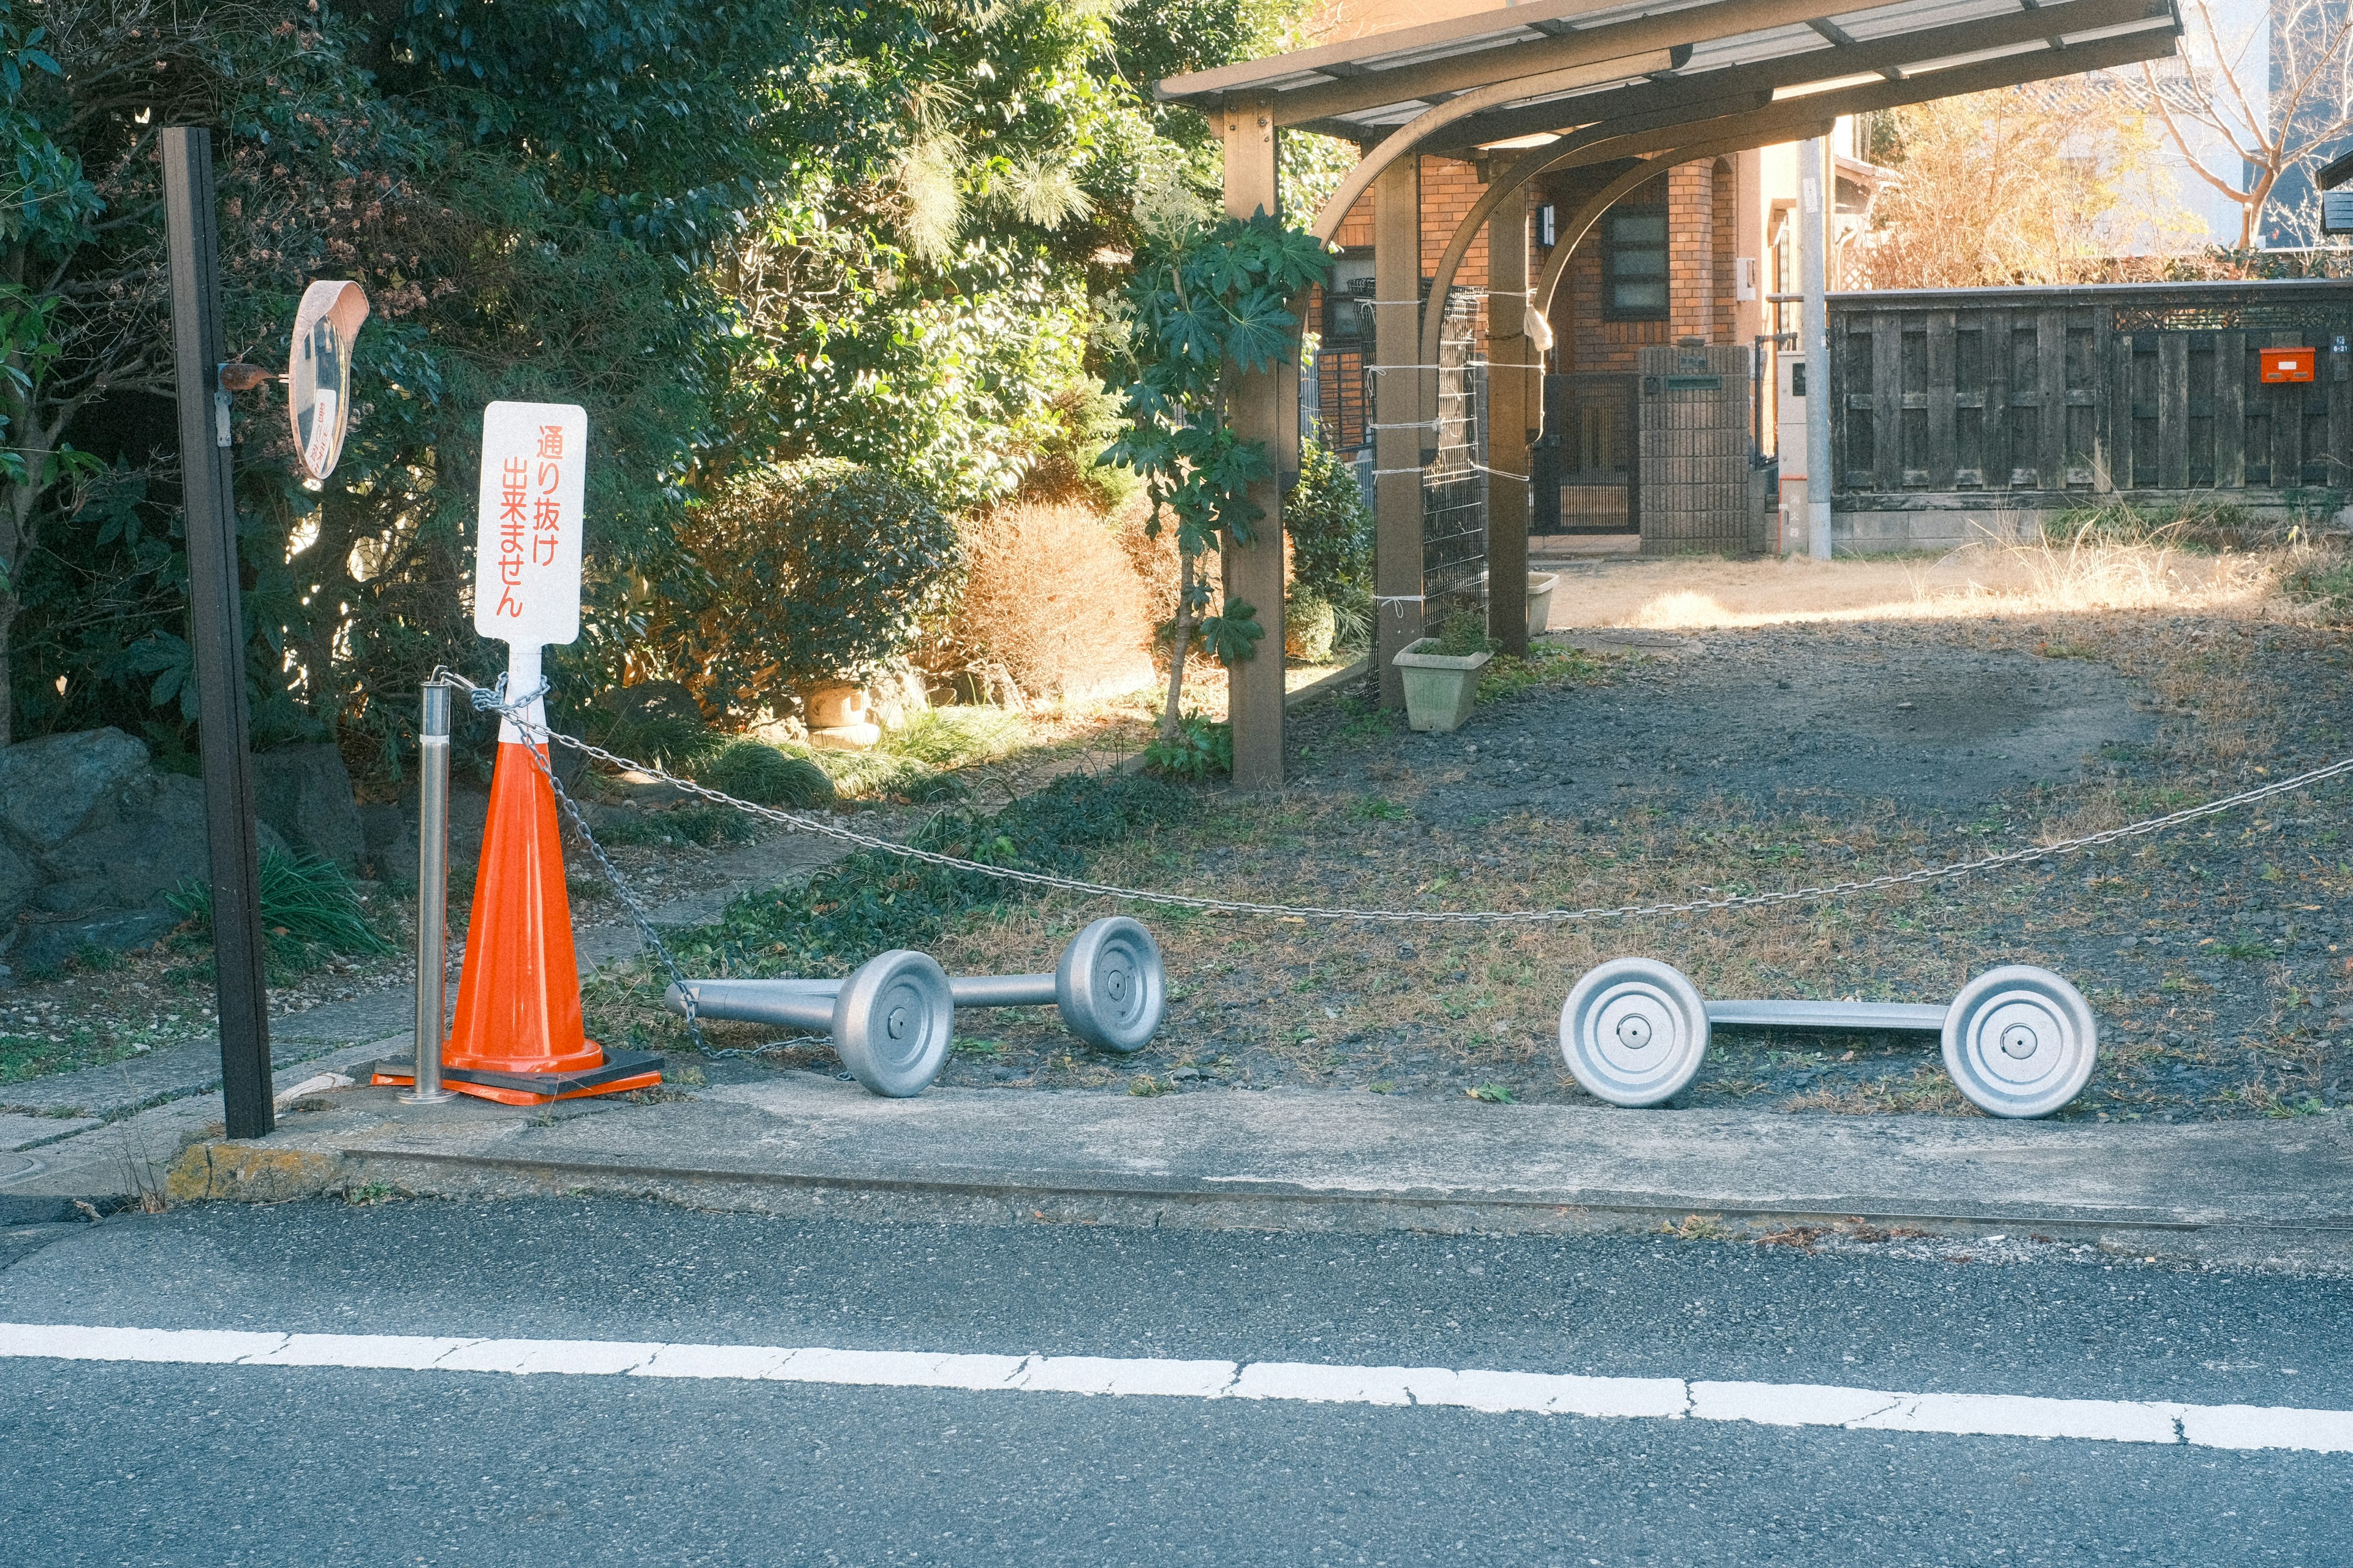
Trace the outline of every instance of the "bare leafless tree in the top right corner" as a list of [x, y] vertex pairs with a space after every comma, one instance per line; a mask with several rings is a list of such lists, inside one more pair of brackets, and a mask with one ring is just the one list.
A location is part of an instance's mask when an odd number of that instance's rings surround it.
[[[2179, 54], [2141, 66], [2148, 108], [2191, 172], [2238, 205], [2240, 250], [2254, 250], [2266, 219], [2313, 242], [2311, 202], [2278, 212], [2273, 195], [2292, 172], [2325, 162], [2353, 129], [2353, 5], [2268, 0], [2233, 35], [2214, 19], [2212, 0], [2188, 0], [2184, 21]], [[2252, 59], [2268, 61], [2268, 82], [2249, 80]]]

